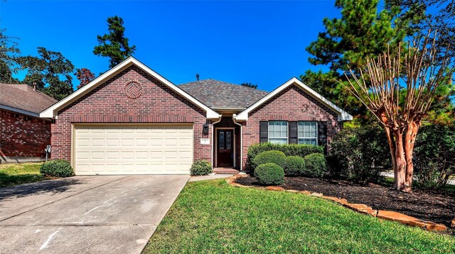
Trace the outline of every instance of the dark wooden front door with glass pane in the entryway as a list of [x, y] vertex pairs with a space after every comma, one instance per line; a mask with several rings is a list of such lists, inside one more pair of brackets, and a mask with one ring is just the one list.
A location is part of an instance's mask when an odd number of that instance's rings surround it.
[[217, 130], [217, 165], [234, 167], [234, 133], [233, 130]]

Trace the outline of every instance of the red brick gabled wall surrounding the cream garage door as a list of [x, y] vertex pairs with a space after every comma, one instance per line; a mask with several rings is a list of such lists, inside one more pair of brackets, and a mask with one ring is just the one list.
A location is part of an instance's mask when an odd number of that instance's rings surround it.
[[[125, 95], [130, 80], [143, 93], [137, 99]], [[205, 111], [173, 92], [159, 80], [132, 66], [58, 112], [52, 125], [52, 158], [70, 160], [71, 123], [194, 123], [194, 160], [210, 161], [210, 145], [201, 145]], [[210, 132], [209, 128], [209, 132]]]

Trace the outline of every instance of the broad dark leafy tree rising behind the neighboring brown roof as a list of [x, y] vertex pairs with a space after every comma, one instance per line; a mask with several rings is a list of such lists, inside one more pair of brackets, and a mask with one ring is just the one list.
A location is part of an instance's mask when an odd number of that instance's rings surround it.
[[74, 65], [59, 52], [38, 47], [38, 57], [19, 57], [18, 63], [28, 72], [23, 82], [36, 83], [36, 88], [60, 100], [73, 92]]

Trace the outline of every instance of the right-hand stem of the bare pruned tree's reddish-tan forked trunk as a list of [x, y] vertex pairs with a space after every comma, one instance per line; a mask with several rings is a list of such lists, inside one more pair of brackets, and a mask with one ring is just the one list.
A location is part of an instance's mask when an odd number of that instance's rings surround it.
[[414, 175], [414, 162], [412, 162], [412, 153], [414, 152], [415, 138], [417, 137], [417, 131], [419, 131], [420, 122], [412, 121], [408, 126], [405, 133], [405, 158], [406, 158], [406, 180], [405, 192], [411, 192], [412, 188], [412, 177]]

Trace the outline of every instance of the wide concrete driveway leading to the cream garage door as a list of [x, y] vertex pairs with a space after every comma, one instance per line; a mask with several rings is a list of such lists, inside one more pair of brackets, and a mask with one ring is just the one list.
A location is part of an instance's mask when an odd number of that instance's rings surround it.
[[0, 189], [0, 253], [140, 253], [188, 178], [69, 177]]

